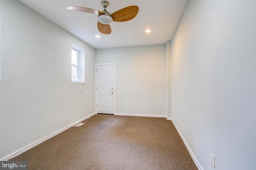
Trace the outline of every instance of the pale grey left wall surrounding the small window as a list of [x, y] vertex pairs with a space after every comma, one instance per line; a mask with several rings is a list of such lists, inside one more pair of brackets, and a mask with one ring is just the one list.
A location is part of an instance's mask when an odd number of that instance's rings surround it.
[[[0, 8], [3, 158], [95, 112], [95, 49], [17, 0]], [[85, 86], [71, 83], [72, 44], [86, 53]]]

